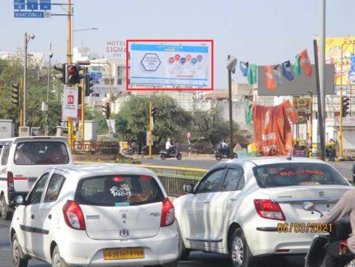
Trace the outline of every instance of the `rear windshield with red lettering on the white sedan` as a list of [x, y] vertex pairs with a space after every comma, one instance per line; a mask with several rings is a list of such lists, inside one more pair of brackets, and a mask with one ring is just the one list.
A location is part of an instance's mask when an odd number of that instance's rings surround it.
[[349, 185], [335, 169], [319, 163], [280, 163], [254, 167], [260, 187]]

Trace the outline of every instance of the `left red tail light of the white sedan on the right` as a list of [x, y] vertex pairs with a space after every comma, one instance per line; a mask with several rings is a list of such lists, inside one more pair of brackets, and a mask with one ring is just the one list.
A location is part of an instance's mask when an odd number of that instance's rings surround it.
[[285, 221], [284, 213], [278, 203], [274, 203], [270, 199], [254, 199], [255, 209], [260, 217], [265, 219], [273, 219]]

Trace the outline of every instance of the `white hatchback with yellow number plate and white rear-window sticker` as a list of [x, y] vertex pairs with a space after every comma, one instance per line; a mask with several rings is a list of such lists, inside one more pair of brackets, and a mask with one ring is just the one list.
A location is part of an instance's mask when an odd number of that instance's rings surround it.
[[176, 266], [174, 206], [154, 172], [132, 165], [47, 169], [10, 226], [12, 259], [52, 266]]

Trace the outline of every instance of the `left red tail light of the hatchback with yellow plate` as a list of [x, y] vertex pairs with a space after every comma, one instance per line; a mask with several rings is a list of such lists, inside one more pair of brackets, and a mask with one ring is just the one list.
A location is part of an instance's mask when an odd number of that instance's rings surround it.
[[75, 201], [66, 201], [63, 207], [64, 220], [66, 224], [76, 230], [86, 230], [84, 214], [80, 205]]

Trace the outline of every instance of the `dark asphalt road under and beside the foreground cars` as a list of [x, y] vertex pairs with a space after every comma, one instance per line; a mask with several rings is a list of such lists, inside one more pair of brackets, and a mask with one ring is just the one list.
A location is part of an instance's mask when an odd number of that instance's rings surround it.
[[[11, 246], [9, 240], [10, 221], [0, 221], [0, 266], [12, 267]], [[267, 259], [264, 267], [301, 267], [304, 266], [303, 257], [282, 257]], [[31, 259], [28, 266], [49, 267], [42, 261]], [[188, 261], [180, 261], [179, 267], [227, 267], [228, 257], [212, 253], [192, 252]]]

